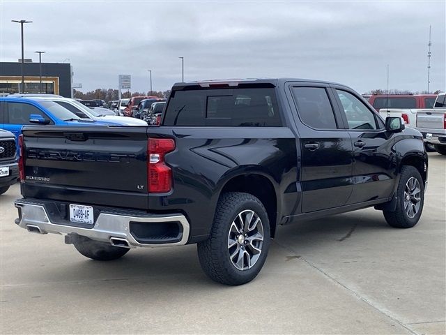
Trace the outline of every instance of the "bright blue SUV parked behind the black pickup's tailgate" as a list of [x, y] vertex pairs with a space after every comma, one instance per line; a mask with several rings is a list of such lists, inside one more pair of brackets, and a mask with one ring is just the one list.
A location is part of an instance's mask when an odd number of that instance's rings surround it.
[[81, 119], [53, 101], [35, 101], [29, 98], [0, 98], [0, 129], [13, 133], [17, 142], [23, 126], [29, 124], [116, 126], [116, 123], [112, 122]]

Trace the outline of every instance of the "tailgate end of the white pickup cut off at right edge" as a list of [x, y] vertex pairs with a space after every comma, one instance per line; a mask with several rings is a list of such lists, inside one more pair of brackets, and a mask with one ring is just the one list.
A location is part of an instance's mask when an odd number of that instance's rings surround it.
[[446, 155], [446, 108], [417, 110], [417, 131], [423, 134], [424, 143]]

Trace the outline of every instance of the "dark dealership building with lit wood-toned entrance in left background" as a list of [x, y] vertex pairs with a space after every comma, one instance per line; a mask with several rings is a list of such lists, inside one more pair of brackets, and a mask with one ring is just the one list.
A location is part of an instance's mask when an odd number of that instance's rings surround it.
[[22, 87], [22, 64], [0, 62], [0, 96], [13, 93], [47, 93], [72, 97], [72, 67], [67, 63], [42, 63], [25, 59], [23, 64], [24, 87]]

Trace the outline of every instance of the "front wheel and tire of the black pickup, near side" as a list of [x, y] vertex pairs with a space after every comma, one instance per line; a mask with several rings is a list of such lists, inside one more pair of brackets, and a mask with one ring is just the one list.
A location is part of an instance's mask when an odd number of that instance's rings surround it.
[[404, 165], [397, 188], [397, 207], [383, 211], [385, 221], [394, 228], [412, 228], [420, 220], [424, 204], [424, 184], [420, 172]]

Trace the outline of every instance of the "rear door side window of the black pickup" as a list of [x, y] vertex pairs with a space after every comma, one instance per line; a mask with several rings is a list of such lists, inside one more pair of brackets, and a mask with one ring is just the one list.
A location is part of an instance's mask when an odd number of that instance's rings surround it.
[[316, 129], [337, 129], [327, 91], [321, 87], [293, 87], [298, 114], [304, 124]]

